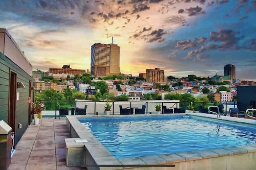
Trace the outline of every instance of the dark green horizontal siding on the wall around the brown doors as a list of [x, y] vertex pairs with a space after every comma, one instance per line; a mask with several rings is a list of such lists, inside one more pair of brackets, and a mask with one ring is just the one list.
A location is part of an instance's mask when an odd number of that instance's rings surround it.
[[[24, 72], [19, 66], [13, 63], [9, 58], [0, 53], [0, 119], [8, 123], [9, 115], [9, 74], [10, 70], [17, 74], [17, 82], [22, 81], [25, 88], [18, 88], [19, 100], [16, 101], [16, 123], [15, 123], [15, 143], [20, 140], [21, 136], [28, 127], [28, 103], [29, 81], [34, 79]], [[22, 124], [22, 128], [18, 129], [18, 124]]]

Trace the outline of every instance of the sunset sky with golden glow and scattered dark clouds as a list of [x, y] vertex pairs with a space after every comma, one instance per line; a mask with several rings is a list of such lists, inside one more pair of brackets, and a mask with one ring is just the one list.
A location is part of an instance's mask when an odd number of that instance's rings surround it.
[[121, 72], [256, 80], [256, 0], [0, 0], [6, 28], [33, 69], [90, 69], [94, 43], [120, 46]]

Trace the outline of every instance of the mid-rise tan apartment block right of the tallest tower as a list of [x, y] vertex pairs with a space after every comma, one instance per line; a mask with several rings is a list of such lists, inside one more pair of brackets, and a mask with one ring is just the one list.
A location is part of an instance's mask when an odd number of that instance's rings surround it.
[[164, 70], [159, 68], [155, 69], [146, 69], [146, 81], [154, 83], [163, 83], [164, 82]]

